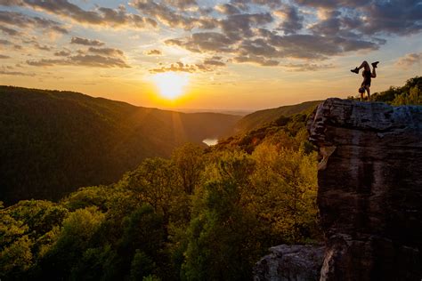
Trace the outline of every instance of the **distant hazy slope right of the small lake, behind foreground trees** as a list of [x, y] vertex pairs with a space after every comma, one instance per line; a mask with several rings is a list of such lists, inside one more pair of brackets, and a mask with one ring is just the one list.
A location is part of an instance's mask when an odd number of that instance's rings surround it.
[[255, 130], [266, 123], [275, 121], [280, 118], [280, 116], [292, 116], [298, 113], [308, 113], [308, 111], [312, 111], [312, 109], [320, 103], [321, 100], [312, 100], [280, 108], [258, 110], [241, 118], [234, 127], [234, 133], [237, 134]]

